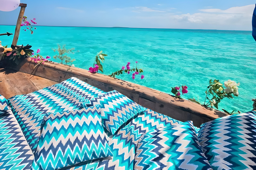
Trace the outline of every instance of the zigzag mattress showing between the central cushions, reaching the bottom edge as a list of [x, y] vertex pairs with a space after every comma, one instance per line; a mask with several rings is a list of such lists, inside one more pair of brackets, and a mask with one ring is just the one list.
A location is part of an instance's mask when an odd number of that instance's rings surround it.
[[182, 122], [147, 109], [129, 123], [122, 125], [114, 135], [105, 130], [113, 153], [111, 160], [78, 166], [74, 170], [133, 170], [135, 149], [141, 134], [179, 123]]

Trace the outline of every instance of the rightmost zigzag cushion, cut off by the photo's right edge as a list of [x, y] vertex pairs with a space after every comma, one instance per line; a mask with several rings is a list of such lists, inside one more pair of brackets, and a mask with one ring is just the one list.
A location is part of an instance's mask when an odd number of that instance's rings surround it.
[[198, 138], [214, 170], [256, 169], [255, 112], [218, 118], [203, 124]]

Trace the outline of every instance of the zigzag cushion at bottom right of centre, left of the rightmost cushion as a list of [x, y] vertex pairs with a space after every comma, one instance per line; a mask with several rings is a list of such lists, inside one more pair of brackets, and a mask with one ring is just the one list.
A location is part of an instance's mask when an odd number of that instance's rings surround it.
[[191, 121], [143, 133], [137, 144], [135, 170], [210, 170]]

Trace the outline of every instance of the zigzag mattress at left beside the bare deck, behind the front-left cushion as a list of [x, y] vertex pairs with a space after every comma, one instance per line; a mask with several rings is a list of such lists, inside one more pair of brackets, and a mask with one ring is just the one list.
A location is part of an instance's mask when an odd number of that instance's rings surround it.
[[75, 77], [59, 84], [9, 99], [24, 135], [34, 152], [40, 136], [40, 124], [46, 113], [75, 110], [80, 102], [92, 99], [105, 92]]

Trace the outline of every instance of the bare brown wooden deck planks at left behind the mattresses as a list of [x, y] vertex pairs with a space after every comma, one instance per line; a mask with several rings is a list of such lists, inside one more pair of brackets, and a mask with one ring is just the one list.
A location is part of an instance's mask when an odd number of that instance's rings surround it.
[[0, 68], [0, 94], [6, 99], [57, 84], [58, 82], [36, 75]]

